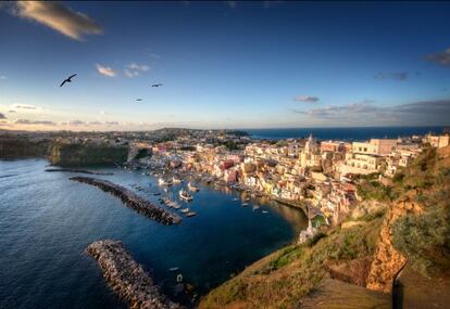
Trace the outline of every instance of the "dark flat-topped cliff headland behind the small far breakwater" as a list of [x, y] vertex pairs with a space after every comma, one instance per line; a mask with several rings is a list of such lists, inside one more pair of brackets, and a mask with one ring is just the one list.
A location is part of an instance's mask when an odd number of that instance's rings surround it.
[[113, 165], [125, 163], [127, 146], [60, 144], [51, 149], [50, 160], [58, 166]]

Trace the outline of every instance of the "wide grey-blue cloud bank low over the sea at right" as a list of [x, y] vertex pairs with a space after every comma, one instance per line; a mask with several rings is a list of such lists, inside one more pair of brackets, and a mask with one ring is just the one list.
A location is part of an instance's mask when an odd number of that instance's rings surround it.
[[310, 111], [293, 111], [310, 119], [330, 121], [337, 125], [449, 125], [450, 99], [418, 101], [393, 106], [379, 106], [372, 100], [350, 103], [347, 105], [325, 106]]

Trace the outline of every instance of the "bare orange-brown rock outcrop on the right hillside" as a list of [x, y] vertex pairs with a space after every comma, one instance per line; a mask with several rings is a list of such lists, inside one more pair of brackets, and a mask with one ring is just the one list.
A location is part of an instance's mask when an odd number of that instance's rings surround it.
[[415, 199], [412, 198], [413, 195], [415, 195], [415, 192], [410, 192], [403, 198], [392, 203], [391, 208], [386, 214], [379, 234], [378, 248], [367, 278], [366, 287], [370, 289], [391, 292], [396, 273], [407, 262], [407, 258], [392, 245], [392, 223], [407, 214], [422, 214], [423, 206], [413, 202]]

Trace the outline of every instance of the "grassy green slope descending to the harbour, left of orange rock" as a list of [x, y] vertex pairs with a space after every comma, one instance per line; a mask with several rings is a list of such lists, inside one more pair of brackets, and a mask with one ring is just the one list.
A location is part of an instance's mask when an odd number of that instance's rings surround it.
[[383, 218], [329, 233], [318, 232], [302, 245], [287, 246], [213, 289], [200, 308], [292, 308], [326, 275], [330, 260], [372, 256]]

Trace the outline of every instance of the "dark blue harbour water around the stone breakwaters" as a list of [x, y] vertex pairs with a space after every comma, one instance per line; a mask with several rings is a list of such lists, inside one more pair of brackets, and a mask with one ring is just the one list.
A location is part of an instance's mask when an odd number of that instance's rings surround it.
[[[91, 242], [120, 240], [163, 289], [175, 297], [175, 275], [204, 294], [252, 261], [293, 240], [304, 215], [264, 201], [242, 207], [235, 192], [202, 188], [180, 226], [162, 226], [66, 172], [45, 172], [43, 159], [0, 160], [0, 308], [125, 308], [85, 254]], [[157, 201], [155, 179], [122, 169], [112, 180]], [[150, 186], [150, 183], [152, 185]], [[177, 190], [179, 188], [176, 188]], [[261, 210], [267, 210], [263, 214]], [[170, 272], [179, 267], [178, 272]]]

